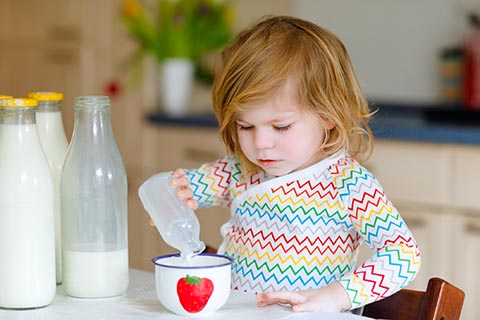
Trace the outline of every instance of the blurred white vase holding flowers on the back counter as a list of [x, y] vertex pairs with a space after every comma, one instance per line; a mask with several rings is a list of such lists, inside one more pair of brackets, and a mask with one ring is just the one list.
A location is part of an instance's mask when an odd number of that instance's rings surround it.
[[180, 117], [187, 113], [193, 86], [194, 63], [171, 58], [160, 65], [160, 104], [166, 114]]

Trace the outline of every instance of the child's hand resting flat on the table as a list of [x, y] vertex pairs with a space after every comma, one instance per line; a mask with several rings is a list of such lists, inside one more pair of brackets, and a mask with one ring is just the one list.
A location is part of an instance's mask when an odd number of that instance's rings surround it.
[[256, 295], [257, 306], [289, 304], [295, 312], [342, 312], [350, 309], [350, 298], [338, 282], [320, 289], [298, 292], [273, 291]]

